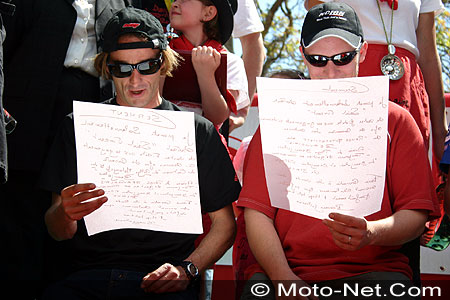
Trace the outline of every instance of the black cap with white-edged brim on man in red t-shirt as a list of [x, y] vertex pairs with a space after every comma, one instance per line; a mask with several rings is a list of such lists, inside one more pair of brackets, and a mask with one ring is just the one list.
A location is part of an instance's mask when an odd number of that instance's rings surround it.
[[355, 10], [346, 3], [326, 2], [311, 8], [302, 27], [302, 46], [308, 48], [325, 37], [337, 37], [355, 49], [364, 34]]

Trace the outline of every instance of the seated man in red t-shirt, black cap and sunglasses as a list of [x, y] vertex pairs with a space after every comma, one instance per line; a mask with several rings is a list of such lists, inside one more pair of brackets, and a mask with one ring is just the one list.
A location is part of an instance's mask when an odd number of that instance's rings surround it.
[[[303, 24], [300, 50], [311, 79], [356, 77], [367, 43], [355, 11], [333, 2], [312, 8]], [[412, 299], [400, 292], [412, 287], [412, 272], [398, 250], [418, 237], [439, 209], [420, 132], [411, 115], [391, 103], [387, 134], [381, 210], [364, 218], [331, 213], [328, 220], [320, 220], [271, 205], [258, 129], [246, 154], [238, 206], [245, 208], [248, 241], [259, 266], [248, 270], [250, 280], [241, 299], [261, 299], [263, 288], [272, 285], [276, 288], [263, 299], [292, 297], [294, 290], [295, 299], [342, 299], [349, 283], [359, 296], [365, 286], [372, 297]], [[265, 286], [255, 288], [261, 281]], [[354, 294], [349, 292], [345, 299], [356, 299]], [[372, 299], [369, 296], [363, 299]]]

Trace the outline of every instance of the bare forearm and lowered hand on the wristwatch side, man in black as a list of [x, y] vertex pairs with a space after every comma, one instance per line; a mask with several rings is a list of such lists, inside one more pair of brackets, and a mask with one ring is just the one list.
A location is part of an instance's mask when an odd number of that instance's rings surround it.
[[[231, 247], [236, 234], [233, 209], [227, 205], [210, 212], [211, 229], [194, 252], [186, 258], [202, 273], [213, 265]], [[146, 292], [168, 293], [185, 290], [189, 279], [181, 266], [164, 264], [147, 274], [141, 283]]]

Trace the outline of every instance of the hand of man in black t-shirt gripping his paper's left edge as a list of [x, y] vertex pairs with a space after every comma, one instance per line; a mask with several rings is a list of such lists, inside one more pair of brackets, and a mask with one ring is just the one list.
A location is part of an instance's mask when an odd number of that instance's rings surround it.
[[68, 186], [61, 191], [59, 207], [66, 219], [78, 221], [108, 200], [106, 196], [103, 196], [104, 190], [95, 188], [93, 183], [80, 183]]

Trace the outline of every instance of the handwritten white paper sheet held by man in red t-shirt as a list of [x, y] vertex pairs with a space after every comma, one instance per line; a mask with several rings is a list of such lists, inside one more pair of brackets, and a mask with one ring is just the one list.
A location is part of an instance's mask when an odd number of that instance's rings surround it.
[[257, 78], [264, 168], [273, 206], [323, 219], [363, 217], [383, 198], [385, 76]]

